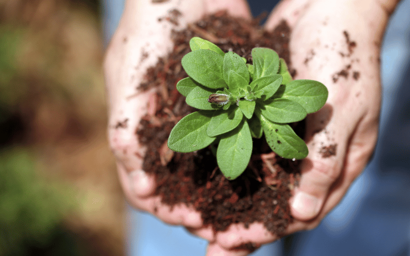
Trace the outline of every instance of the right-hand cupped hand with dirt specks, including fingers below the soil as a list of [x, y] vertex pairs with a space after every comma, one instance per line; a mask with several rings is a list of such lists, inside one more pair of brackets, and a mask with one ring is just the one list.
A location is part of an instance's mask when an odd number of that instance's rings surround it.
[[[268, 19], [267, 29], [282, 19], [292, 29], [295, 79], [318, 80], [329, 89], [326, 105], [307, 117], [309, 155], [302, 161], [300, 185], [291, 199], [295, 222], [288, 234], [315, 228], [342, 199], [374, 150], [381, 91], [379, 50], [397, 2], [289, 0], [282, 1]], [[326, 147], [335, 154], [326, 153]], [[233, 248], [276, 239], [260, 224], [250, 229], [232, 225], [217, 234], [210, 251], [246, 255]]]

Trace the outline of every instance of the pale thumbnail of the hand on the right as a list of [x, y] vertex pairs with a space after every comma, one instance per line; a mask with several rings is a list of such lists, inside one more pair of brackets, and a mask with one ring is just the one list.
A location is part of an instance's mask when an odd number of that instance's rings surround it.
[[316, 217], [320, 210], [319, 199], [302, 191], [299, 191], [292, 202], [292, 208], [301, 217], [312, 219]]

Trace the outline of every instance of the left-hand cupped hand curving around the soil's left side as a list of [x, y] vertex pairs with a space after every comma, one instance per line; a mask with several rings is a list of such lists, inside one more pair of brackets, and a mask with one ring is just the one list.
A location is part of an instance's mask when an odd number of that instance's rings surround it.
[[[173, 15], [173, 9], [181, 14], [176, 20], [179, 25], [166, 19]], [[108, 134], [122, 188], [133, 206], [151, 212], [169, 224], [190, 228], [203, 226], [199, 212], [185, 205], [176, 206], [171, 211], [153, 195], [155, 180], [141, 169], [145, 148], [139, 144], [135, 131], [141, 117], [155, 114], [156, 91], [141, 93], [137, 87], [158, 57], [165, 56], [172, 49], [172, 29], [183, 28], [205, 14], [224, 9], [231, 15], [251, 17], [247, 3], [242, 0], [128, 0], [107, 50], [104, 69]]]

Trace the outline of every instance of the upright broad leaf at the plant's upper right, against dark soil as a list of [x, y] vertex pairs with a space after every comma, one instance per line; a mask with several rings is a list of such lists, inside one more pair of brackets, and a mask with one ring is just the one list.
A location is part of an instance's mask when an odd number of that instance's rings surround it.
[[264, 76], [272, 76], [278, 73], [279, 56], [269, 48], [252, 49], [254, 79]]

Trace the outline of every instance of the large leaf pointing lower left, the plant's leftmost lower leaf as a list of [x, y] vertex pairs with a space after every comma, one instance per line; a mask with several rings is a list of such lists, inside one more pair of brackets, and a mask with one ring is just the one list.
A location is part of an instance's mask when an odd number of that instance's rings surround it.
[[215, 138], [207, 135], [209, 111], [197, 111], [179, 120], [168, 138], [168, 147], [176, 152], [193, 152], [211, 144]]

